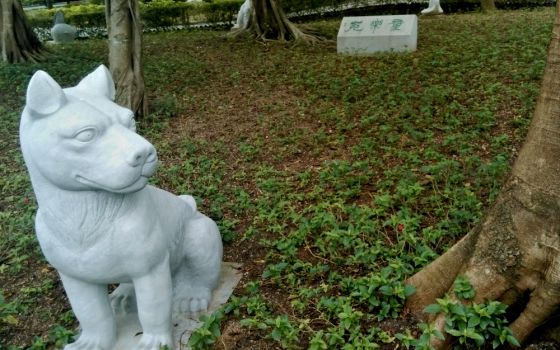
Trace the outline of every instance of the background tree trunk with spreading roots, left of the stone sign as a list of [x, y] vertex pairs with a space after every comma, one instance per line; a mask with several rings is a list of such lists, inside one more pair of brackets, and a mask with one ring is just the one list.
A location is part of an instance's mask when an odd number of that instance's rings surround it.
[[230, 35], [251, 34], [261, 40], [315, 42], [320, 38], [305, 33], [290, 22], [276, 0], [251, 0], [251, 15], [246, 28], [232, 30]]

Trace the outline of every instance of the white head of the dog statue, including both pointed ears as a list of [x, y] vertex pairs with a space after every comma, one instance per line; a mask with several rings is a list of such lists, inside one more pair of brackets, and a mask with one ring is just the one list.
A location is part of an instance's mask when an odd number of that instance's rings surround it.
[[132, 111], [114, 102], [111, 73], [99, 66], [78, 85], [62, 89], [43, 71], [27, 88], [20, 143], [35, 191], [132, 193], [157, 166], [153, 145], [136, 133]]

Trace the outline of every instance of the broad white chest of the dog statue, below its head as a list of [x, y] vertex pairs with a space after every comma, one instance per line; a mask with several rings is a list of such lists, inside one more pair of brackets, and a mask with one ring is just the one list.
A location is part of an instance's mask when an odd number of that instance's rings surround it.
[[103, 283], [150, 271], [169, 244], [162, 239], [161, 220], [153, 215], [156, 208], [144, 191], [148, 188], [122, 201], [105, 201], [102, 212], [76, 204], [73, 210], [59, 208], [56, 213], [40, 210], [36, 229], [47, 260], [68, 275]]

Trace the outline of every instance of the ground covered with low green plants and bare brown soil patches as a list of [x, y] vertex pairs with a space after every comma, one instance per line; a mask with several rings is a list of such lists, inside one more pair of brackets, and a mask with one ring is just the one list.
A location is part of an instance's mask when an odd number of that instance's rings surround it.
[[[525, 137], [554, 9], [420, 18], [418, 51], [150, 34], [152, 182], [193, 194], [243, 264], [231, 301], [195, 348], [396, 349], [422, 331], [404, 280], [475, 225]], [[0, 349], [60, 347], [76, 323], [33, 231], [18, 149], [27, 83], [62, 86], [106, 62], [103, 40], [0, 64]], [[221, 338], [216, 331], [221, 330]], [[212, 334], [214, 332], [214, 334]], [[490, 339], [491, 343], [491, 339]], [[411, 348], [413, 348], [411, 346]]]

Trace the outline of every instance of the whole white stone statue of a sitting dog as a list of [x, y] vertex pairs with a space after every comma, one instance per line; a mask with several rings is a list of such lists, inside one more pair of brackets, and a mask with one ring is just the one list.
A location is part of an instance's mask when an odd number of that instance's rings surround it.
[[[113, 309], [127, 306], [143, 329], [136, 349], [172, 349], [172, 311], [207, 309], [222, 241], [191, 196], [147, 184], [156, 150], [114, 98], [105, 66], [67, 89], [43, 71], [31, 78], [20, 142], [39, 203], [37, 237], [80, 321], [66, 350], [111, 349]], [[109, 296], [111, 283], [120, 285]]]

